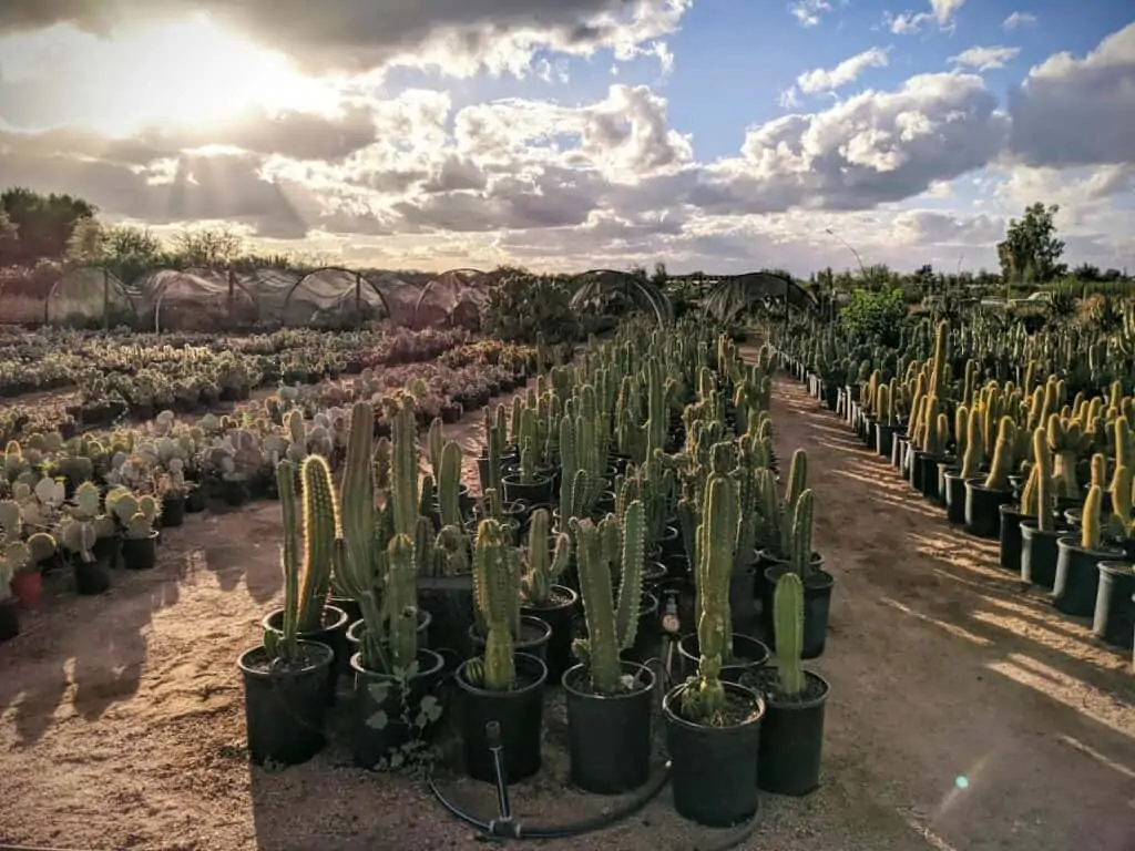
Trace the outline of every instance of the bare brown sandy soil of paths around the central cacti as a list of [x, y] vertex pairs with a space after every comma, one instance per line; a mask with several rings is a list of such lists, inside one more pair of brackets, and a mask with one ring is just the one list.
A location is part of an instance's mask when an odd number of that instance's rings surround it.
[[[951, 530], [800, 385], [777, 381], [774, 408], [782, 457], [808, 449], [817, 548], [836, 576], [815, 663], [833, 691], [821, 790], [765, 798], [742, 846], [1135, 851], [1129, 657], [993, 566], [993, 546]], [[451, 433], [474, 449], [480, 415]], [[235, 659], [279, 601], [277, 536], [272, 504], [191, 516], [155, 571], [118, 575], [101, 598], [61, 590], [0, 646], [0, 848], [478, 846], [420, 783], [354, 769], [339, 745], [250, 769]], [[522, 819], [615, 803], [565, 791], [564, 726], [550, 700], [545, 770], [512, 790]], [[488, 787], [445, 787], [494, 814]], [[692, 851], [720, 836], [664, 790], [615, 828], [544, 844]]]

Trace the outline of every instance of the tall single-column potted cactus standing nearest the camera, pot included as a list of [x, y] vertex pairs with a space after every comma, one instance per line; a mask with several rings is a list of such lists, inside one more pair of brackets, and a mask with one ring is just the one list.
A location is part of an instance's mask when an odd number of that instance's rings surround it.
[[671, 758], [671, 786], [679, 815], [711, 827], [751, 818], [757, 810], [757, 752], [762, 698], [721, 677], [730, 656], [729, 581], [734, 536], [711, 534], [711, 523], [733, 530], [738, 523], [733, 482], [711, 474], [698, 548], [697, 674], [663, 699]]

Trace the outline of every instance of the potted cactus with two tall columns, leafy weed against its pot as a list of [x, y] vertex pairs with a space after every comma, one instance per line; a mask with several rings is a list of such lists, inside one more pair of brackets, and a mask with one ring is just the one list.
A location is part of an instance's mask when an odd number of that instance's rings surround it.
[[[362, 613], [362, 626], [352, 627], [359, 641], [351, 658], [352, 753], [356, 765], [368, 768], [429, 732], [440, 715], [432, 692], [445, 668], [442, 656], [424, 647], [429, 622], [423, 624], [419, 616], [412, 536], [421, 517], [413, 488], [418, 458], [410, 406], [395, 416], [395, 431], [394, 481], [382, 508], [376, 508], [375, 412], [367, 403], [354, 406], [339, 506], [343, 532], [334, 544], [338, 583]], [[376, 530], [388, 532], [376, 536]]]

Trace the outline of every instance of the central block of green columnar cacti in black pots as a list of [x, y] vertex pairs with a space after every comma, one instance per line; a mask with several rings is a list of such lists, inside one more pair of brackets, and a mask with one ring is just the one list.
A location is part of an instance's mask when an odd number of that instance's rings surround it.
[[748, 364], [715, 328], [630, 323], [486, 410], [477, 499], [440, 422], [420, 445], [404, 402], [376, 443], [355, 404], [338, 489], [320, 456], [277, 466], [285, 600], [239, 659], [252, 759], [318, 752], [346, 675], [360, 766], [447, 731], [503, 790], [540, 770], [562, 686], [585, 791], [662, 787], [655, 697], [681, 815], [731, 825], [758, 786], [815, 789], [829, 688], [801, 659], [823, 651], [832, 578], [802, 453], [777, 486], [770, 393], [768, 351]]

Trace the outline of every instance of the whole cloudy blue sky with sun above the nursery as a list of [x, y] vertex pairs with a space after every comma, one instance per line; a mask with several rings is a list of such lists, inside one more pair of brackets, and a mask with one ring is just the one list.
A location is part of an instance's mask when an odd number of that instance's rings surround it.
[[[1127, 8], [1125, 12], [1124, 9]], [[1069, 0], [5, 0], [0, 186], [376, 268], [1135, 269], [1135, 12]]]

